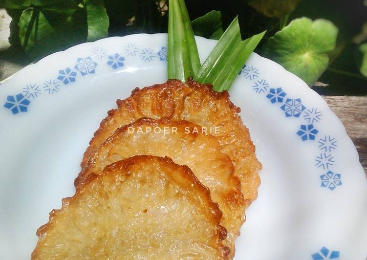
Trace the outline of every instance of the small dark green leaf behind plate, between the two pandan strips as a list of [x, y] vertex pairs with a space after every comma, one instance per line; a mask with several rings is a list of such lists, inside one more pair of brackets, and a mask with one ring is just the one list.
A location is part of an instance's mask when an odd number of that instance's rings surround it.
[[223, 34], [222, 15], [219, 11], [210, 11], [191, 22], [194, 34], [208, 39], [218, 40]]

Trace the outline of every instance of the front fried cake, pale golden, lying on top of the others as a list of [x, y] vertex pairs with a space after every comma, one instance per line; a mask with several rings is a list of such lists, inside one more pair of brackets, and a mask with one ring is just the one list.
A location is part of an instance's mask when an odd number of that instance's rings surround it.
[[37, 231], [32, 259], [227, 259], [220, 218], [188, 167], [134, 156], [63, 199]]

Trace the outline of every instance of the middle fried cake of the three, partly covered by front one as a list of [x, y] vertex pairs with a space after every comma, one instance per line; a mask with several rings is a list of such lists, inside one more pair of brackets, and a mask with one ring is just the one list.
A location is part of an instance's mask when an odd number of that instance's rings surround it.
[[188, 121], [138, 119], [116, 130], [91, 155], [76, 185], [82, 184], [89, 174], [98, 174], [107, 165], [133, 155], [168, 156], [177, 164], [187, 165], [210, 189], [213, 201], [219, 204], [223, 213], [221, 225], [227, 229], [227, 239], [223, 243], [234, 255], [235, 240], [244, 220], [240, 182], [233, 174], [231, 159], [220, 152], [218, 140], [202, 130]]

